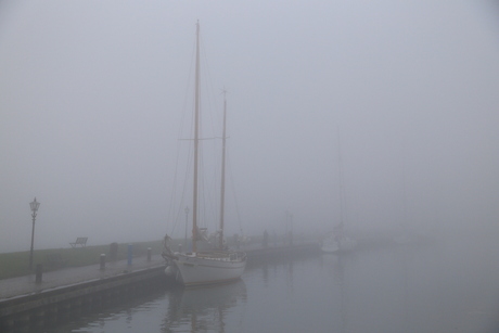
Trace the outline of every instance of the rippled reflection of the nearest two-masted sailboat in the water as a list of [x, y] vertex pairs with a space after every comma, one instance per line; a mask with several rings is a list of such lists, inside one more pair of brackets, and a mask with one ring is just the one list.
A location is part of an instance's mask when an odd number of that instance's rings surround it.
[[203, 289], [177, 289], [168, 293], [162, 332], [226, 332], [230, 309], [246, 303], [242, 280]]

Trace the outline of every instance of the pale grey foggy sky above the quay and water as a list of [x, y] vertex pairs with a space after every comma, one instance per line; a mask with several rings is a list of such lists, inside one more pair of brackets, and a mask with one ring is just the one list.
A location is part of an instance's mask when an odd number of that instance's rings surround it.
[[[497, 235], [497, 13], [459, 0], [1, 2], [0, 252], [29, 248], [35, 196], [35, 248], [183, 236], [190, 194], [175, 179], [197, 20], [207, 137], [221, 136], [229, 91], [228, 234], [281, 233], [290, 215], [295, 233], [324, 232], [343, 210], [348, 230]], [[220, 141], [205, 145], [215, 170]]]

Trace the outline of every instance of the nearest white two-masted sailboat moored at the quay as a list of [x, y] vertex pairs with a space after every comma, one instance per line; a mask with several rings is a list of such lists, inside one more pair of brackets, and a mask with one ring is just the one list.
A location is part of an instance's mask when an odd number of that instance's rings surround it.
[[220, 229], [218, 230], [218, 248], [197, 251], [196, 242], [200, 239], [197, 228], [197, 177], [199, 177], [199, 142], [200, 142], [200, 23], [196, 23], [196, 64], [195, 64], [195, 93], [194, 93], [194, 189], [192, 212], [192, 252], [174, 253], [167, 245], [169, 236], [165, 236], [163, 253], [167, 267], [165, 272], [185, 285], [205, 285], [223, 283], [240, 279], [246, 267], [246, 254], [226, 248], [223, 244], [223, 201], [225, 201], [225, 155], [226, 155], [226, 112], [227, 101], [223, 100], [223, 136], [222, 136], [222, 166], [221, 166], [221, 204]]

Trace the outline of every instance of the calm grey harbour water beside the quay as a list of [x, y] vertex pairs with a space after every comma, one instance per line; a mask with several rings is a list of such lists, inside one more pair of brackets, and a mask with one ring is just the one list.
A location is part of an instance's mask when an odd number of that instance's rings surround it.
[[53, 332], [499, 332], [498, 247], [460, 240], [269, 262]]

